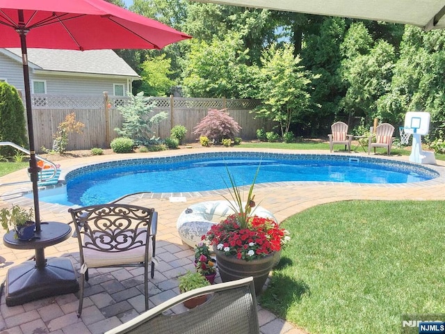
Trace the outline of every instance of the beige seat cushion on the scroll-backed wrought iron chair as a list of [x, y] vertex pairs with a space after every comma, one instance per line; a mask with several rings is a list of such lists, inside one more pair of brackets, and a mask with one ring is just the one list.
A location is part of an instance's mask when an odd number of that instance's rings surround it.
[[[143, 230], [143, 229], [138, 229]], [[86, 241], [86, 238], [90, 239], [89, 237], [84, 237], [84, 242]], [[145, 240], [147, 238], [146, 233], [140, 233], [136, 240], [142, 241], [143, 246], [139, 246], [136, 248], [132, 248], [129, 250], [123, 250], [123, 251], [101, 251], [101, 250], [94, 250], [91, 248], [83, 248], [83, 259], [84, 264], [88, 268], [97, 268], [97, 267], [106, 267], [106, 266], [112, 266], [112, 265], [121, 265], [121, 264], [132, 264], [132, 263], [138, 263], [138, 262], [144, 262], [145, 261]], [[125, 246], [125, 244], [120, 244], [120, 246]], [[106, 248], [109, 248], [109, 245], [106, 245]], [[152, 258], [152, 247], [148, 248], [149, 250], [149, 256], [148, 260], [151, 260]]]

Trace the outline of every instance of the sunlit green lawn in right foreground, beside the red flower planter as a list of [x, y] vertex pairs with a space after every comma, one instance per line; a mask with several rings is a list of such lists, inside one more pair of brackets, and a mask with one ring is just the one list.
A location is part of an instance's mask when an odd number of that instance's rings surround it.
[[401, 333], [445, 313], [441, 201], [346, 201], [282, 223], [291, 243], [260, 303], [309, 333]]

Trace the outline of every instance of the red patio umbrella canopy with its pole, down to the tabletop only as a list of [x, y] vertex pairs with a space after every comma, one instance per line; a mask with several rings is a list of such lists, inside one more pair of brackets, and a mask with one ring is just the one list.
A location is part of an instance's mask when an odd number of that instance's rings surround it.
[[26, 47], [81, 51], [161, 49], [186, 38], [191, 36], [104, 0], [0, 0], [0, 47], [22, 48], [36, 231], [40, 231], [39, 169], [35, 160]]

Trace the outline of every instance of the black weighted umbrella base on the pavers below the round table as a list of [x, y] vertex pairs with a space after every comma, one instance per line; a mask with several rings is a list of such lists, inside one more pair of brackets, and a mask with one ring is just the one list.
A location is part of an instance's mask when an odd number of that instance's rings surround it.
[[6, 274], [6, 305], [14, 306], [58, 294], [79, 290], [76, 271], [70, 259], [52, 257], [43, 268], [34, 261], [26, 261], [8, 270]]

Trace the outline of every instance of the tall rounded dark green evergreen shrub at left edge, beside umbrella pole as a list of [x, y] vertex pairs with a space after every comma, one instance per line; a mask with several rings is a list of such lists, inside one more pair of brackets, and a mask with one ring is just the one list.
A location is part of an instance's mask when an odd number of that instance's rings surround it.
[[[0, 141], [12, 141], [26, 148], [25, 112], [17, 89], [6, 82], [0, 82]], [[10, 157], [15, 148], [0, 147], [0, 154]]]

